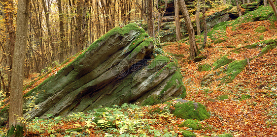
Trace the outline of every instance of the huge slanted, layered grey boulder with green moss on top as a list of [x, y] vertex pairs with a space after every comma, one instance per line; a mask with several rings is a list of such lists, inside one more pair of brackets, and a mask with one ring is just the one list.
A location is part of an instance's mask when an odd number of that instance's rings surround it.
[[151, 96], [164, 102], [186, 94], [177, 60], [153, 55], [153, 50], [153, 40], [136, 24], [111, 29], [66, 67], [24, 95], [25, 118], [65, 116], [99, 106], [143, 103]]

